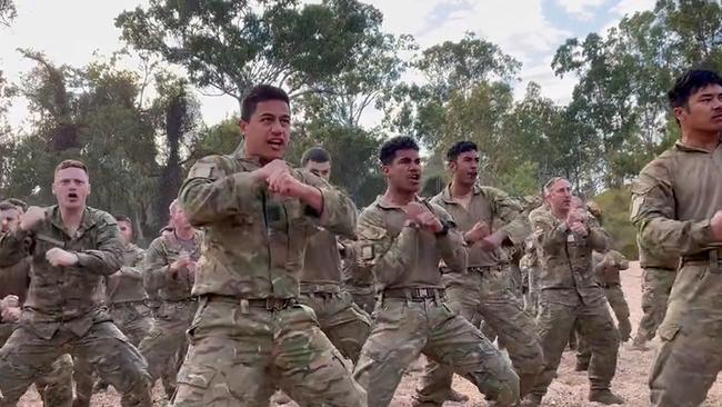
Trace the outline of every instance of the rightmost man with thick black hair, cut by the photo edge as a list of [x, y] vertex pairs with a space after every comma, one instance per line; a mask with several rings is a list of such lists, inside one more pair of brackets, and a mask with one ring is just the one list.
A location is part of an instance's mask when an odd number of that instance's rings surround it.
[[682, 139], [632, 185], [631, 220], [652, 255], [681, 257], [649, 383], [653, 406], [686, 407], [722, 367], [722, 78], [692, 70], [668, 95]]

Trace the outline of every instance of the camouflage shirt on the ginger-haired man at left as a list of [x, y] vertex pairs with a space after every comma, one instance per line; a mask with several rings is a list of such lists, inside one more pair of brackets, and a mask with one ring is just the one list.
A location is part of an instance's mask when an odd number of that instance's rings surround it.
[[[53, 267], [46, 259], [51, 248], [78, 255], [72, 267]], [[46, 218], [32, 231], [17, 230], [0, 239], [0, 267], [9, 267], [32, 256], [30, 290], [20, 322], [50, 338], [60, 324], [79, 336], [100, 320], [108, 320], [102, 307], [104, 276], [121, 267], [123, 244], [112, 216], [86, 208], [74, 236], [68, 236], [60, 208], [46, 209]]]

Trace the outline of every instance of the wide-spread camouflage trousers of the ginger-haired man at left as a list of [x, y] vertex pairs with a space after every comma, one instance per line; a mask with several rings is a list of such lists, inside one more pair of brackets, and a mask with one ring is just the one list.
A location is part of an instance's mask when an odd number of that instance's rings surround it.
[[48, 368], [64, 354], [92, 364], [121, 394], [123, 407], [151, 405], [146, 360], [116, 325], [104, 321], [94, 322], [82, 336], [61, 326], [50, 339], [30, 326], [16, 329], [0, 349], [0, 391], [4, 396], [0, 406], [14, 406], [30, 384], [47, 376]]

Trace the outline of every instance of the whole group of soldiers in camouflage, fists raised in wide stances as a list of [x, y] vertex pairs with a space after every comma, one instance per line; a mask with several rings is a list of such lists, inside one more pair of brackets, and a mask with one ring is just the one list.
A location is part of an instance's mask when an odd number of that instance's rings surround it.
[[[720, 369], [716, 330], [702, 329], [715, 327], [716, 314], [701, 310], [719, 297], [722, 266], [711, 260], [719, 259], [711, 246], [722, 240], [722, 212], [702, 208], [689, 179], [670, 179], [693, 172], [695, 181], [708, 181], [712, 201], [722, 199], [722, 80], [699, 72], [681, 78], [670, 93], [682, 142], [668, 153], [672, 158], [650, 163], [633, 187], [640, 245], [661, 258], [682, 257], [660, 328], [655, 406], [699, 405]], [[19, 327], [0, 349], [0, 406], [14, 405], [31, 383], [42, 383], [64, 354], [76, 366], [92, 366], [80, 369], [86, 378], [77, 379], [79, 387], [92, 384], [94, 370], [118, 389], [123, 406], [149, 406], [152, 383], [168, 371], [173, 406], [267, 406], [278, 389], [302, 406], [388, 406], [421, 354], [429, 364], [414, 406], [458, 397], [453, 373], [490, 405], [539, 406], [575, 331], [589, 399], [623, 403], [610, 385], [620, 332], [624, 340], [631, 336], [619, 279], [625, 259], [610, 250], [609, 236], [566, 179], [544, 185], [544, 205], [522, 206], [477, 185], [478, 147], [461, 141], [447, 157], [451, 183], [421, 199], [419, 146], [395, 137], [379, 152], [387, 190], [357, 220], [352, 201], [328, 182], [328, 152], [307, 151], [303, 169], [283, 161], [290, 123], [283, 90], [253, 88], [242, 103], [243, 149], [193, 165], [171, 207], [173, 230], [151, 244], [142, 270], [133, 266], [136, 249], [123, 245], [122, 221], [86, 206], [87, 168], [63, 161], [53, 182], [59, 205], [29, 208], [0, 239], [0, 267], [30, 261]], [[709, 159], [699, 158], [705, 153]], [[660, 160], [682, 169], [666, 170]], [[688, 199], [688, 212], [671, 206], [680, 199]], [[673, 220], [678, 216], [688, 220]], [[525, 267], [535, 270], [527, 309], [535, 312], [524, 310], [510, 256], [530, 236], [539, 267]], [[137, 348], [128, 338], [148, 317], [139, 308], [148, 302], [120, 292], [141, 279], [160, 302]], [[19, 304], [3, 300], [3, 317], [4, 308], [18, 314]], [[640, 327], [635, 346], [651, 332], [652, 324]], [[690, 350], [689, 344], [700, 347]], [[692, 384], [699, 363], [706, 364], [705, 380]], [[88, 398], [88, 391], [78, 393]]]

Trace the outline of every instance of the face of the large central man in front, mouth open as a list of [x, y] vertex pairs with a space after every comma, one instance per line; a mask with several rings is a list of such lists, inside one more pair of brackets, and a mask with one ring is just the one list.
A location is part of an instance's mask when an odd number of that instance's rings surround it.
[[245, 153], [272, 161], [283, 158], [291, 138], [291, 111], [282, 100], [259, 102], [249, 121], [241, 120]]

